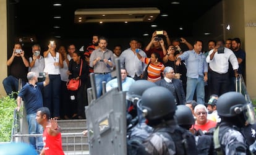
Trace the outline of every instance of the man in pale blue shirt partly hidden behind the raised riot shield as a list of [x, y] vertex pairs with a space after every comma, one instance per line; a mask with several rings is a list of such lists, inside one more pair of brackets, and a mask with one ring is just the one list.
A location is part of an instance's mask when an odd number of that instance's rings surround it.
[[[121, 69], [122, 91], [129, 91], [130, 85], [135, 82], [133, 78], [127, 77], [126, 69]], [[106, 91], [118, 87], [117, 78], [106, 83]]]

